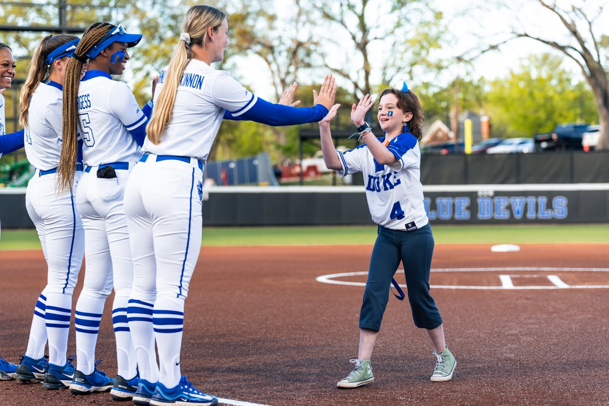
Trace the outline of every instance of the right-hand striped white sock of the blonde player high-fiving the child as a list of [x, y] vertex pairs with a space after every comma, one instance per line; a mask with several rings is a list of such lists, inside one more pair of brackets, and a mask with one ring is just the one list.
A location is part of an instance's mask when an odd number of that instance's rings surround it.
[[160, 366], [159, 382], [173, 388], [180, 382], [180, 351], [184, 326], [184, 299], [158, 297], [152, 313]]

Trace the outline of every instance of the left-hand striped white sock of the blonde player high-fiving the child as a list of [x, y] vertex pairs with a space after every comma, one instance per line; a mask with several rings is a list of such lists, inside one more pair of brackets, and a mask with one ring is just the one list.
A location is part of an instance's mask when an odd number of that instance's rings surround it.
[[127, 321], [138, 360], [139, 377], [148, 382], [158, 382], [157, 353], [152, 326], [154, 301], [154, 296], [145, 299], [132, 296], [127, 306]]

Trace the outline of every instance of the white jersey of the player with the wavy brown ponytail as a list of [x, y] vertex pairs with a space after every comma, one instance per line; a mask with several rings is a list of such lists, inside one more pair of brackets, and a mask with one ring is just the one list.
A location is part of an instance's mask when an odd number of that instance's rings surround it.
[[30, 99], [24, 133], [27, 160], [41, 170], [57, 167], [62, 152], [62, 86], [38, 83]]

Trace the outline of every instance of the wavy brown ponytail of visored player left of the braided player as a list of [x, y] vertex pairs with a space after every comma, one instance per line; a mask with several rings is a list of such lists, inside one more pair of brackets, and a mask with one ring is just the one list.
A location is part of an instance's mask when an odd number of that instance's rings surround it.
[[40, 41], [40, 45], [30, 62], [30, 69], [27, 72], [26, 82], [21, 86], [21, 96], [19, 97], [19, 111], [21, 111], [21, 113], [19, 114], [19, 123], [21, 123], [23, 127], [27, 127], [27, 113], [30, 109], [32, 94], [36, 88], [38, 88], [38, 83], [47, 79], [53, 69], [52, 64], [46, 64], [46, 57], [57, 47], [77, 39], [78, 37], [76, 37], [76, 35], [59, 34], [47, 35]]

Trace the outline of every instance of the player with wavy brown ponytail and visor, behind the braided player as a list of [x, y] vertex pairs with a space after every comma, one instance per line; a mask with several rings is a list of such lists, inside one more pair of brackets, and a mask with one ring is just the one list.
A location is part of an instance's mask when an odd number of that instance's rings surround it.
[[[36, 169], [27, 185], [26, 208], [36, 226], [48, 265], [48, 284], [40, 294], [32, 320], [27, 351], [21, 355], [16, 379], [43, 379], [46, 389], [68, 387], [74, 365], [66, 362], [72, 292], [85, 250], [82, 220], [76, 208], [76, 167], [70, 190], [56, 194], [57, 164], [62, 150], [63, 76], [79, 40], [74, 35], [49, 35], [38, 47], [21, 88], [21, 123], [27, 159]], [[49, 342], [45, 373], [44, 348]]]

